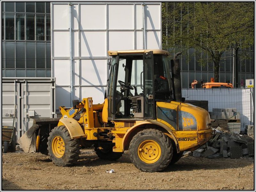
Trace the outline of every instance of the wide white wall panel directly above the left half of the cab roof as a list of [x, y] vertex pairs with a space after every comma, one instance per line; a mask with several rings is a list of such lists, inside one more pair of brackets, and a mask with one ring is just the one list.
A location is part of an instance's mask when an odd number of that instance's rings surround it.
[[110, 31], [109, 50], [129, 50], [134, 49], [134, 32], [132, 31]]

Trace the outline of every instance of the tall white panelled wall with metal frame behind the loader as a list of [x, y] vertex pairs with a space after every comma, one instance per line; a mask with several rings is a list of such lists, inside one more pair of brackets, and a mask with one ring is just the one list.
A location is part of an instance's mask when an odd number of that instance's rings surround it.
[[51, 3], [51, 17], [56, 109], [103, 103], [108, 50], [162, 48], [161, 3]]

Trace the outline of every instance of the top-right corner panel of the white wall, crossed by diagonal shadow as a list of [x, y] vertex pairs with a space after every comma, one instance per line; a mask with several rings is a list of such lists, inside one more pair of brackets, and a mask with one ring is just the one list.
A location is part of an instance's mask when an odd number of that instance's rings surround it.
[[146, 29], [160, 29], [161, 28], [161, 6], [146, 5], [145, 6]]

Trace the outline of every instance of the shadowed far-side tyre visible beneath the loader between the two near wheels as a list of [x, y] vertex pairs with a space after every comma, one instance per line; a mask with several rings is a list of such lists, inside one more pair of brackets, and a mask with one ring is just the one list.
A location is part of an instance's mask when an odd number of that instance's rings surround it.
[[[98, 147], [102, 147], [105, 151], [98, 149]], [[94, 144], [94, 151], [98, 155], [100, 159], [104, 160], [117, 160], [120, 157], [122, 157], [124, 152], [113, 152], [113, 146], [112, 145], [99, 145]]]

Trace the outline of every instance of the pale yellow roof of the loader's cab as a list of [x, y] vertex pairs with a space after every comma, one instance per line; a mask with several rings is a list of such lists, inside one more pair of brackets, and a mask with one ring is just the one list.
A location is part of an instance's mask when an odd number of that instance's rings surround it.
[[132, 54], [132, 53], [147, 53], [149, 51], [153, 51], [153, 54], [162, 54], [162, 55], [170, 55], [170, 53], [166, 50], [162, 49], [137, 49], [137, 50], [123, 50], [123, 51], [108, 51], [108, 55], [118, 55], [118, 54]]

